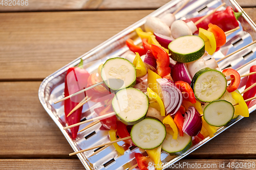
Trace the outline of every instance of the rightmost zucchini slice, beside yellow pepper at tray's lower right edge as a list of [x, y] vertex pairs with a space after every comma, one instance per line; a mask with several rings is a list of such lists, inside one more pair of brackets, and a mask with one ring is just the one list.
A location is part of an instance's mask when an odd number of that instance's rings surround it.
[[224, 100], [211, 102], [204, 108], [204, 120], [211, 126], [224, 126], [233, 118], [233, 115], [233, 105]]

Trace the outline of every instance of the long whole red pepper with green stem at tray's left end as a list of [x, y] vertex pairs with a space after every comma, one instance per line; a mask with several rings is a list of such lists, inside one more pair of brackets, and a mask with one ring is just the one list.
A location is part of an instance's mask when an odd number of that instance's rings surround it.
[[[82, 61], [79, 65], [82, 65]], [[78, 68], [78, 67], [72, 67], [69, 68], [67, 71], [67, 75], [65, 78], [65, 97], [69, 96], [70, 94], [73, 94], [77, 91], [82, 90], [83, 88], [87, 87], [87, 80], [90, 76], [89, 72], [87, 72], [86, 69]], [[82, 114], [82, 107], [74, 111], [70, 116], [68, 114], [78, 103], [85, 98], [86, 93], [80, 93], [78, 95], [73, 96], [70, 99], [67, 99], [64, 101], [64, 111], [65, 111], [65, 118], [68, 125], [73, 125], [76, 123], [79, 123], [81, 120], [81, 114]], [[68, 116], [68, 117], [67, 117]], [[71, 128], [72, 139], [75, 139], [77, 136], [79, 126]]]

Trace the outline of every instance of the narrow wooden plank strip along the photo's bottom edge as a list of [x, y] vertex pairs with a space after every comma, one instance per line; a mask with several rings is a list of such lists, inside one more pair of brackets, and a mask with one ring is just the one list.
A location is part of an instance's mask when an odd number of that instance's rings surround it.
[[[255, 163], [253, 159], [182, 159], [167, 169], [254, 169]], [[8, 170], [84, 169], [78, 159], [0, 159], [0, 167]]]

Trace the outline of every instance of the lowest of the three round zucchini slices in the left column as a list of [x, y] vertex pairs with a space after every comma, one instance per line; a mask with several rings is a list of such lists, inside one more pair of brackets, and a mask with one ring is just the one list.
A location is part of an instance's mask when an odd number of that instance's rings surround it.
[[131, 130], [131, 138], [137, 147], [151, 150], [159, 147], [166, 136], [165, 126], [153, 118], [145, 118], [134, 125]]

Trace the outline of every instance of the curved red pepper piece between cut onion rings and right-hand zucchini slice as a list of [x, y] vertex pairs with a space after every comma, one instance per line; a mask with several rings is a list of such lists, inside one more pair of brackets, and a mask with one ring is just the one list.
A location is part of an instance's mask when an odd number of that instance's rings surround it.
[[177, 81], [175, 82], [175, 85], [180, 89], [181, 92], [185, 92], [183, 94], [183, 100], [188, 101], [192, 104], [195, 104], [197, 102], [194, 91], [187, 82]]

